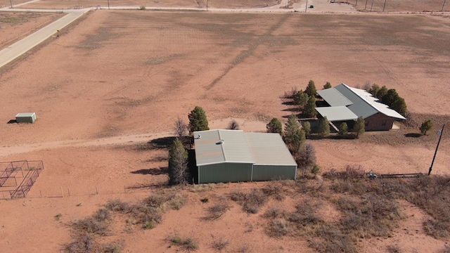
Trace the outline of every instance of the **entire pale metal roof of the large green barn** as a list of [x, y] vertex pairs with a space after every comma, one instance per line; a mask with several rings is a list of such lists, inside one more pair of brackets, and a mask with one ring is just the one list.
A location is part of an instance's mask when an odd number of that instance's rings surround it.
[[198, 166], [221, 162], [297, 166], [279, 134], [240, 130], [195, 131], [194, 143]]

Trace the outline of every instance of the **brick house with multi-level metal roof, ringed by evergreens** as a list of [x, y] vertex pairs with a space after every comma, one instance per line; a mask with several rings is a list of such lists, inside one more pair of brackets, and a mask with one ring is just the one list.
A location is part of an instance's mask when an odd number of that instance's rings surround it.
[[330, 106], [316, 108], [316, 111], [333, 123], [356, 121], [361, 116], [366, 131], [380, 131], [390, 130], [396, 120], [406, 119], [364, 89], [339, 84], [317, 93]]

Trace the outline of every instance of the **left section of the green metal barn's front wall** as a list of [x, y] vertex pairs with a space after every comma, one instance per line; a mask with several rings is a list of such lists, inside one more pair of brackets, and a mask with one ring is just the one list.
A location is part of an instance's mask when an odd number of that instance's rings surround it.
[[252, 164], [224, 162], [198, 167], [198, 183], [246, 182], [252, 179]]

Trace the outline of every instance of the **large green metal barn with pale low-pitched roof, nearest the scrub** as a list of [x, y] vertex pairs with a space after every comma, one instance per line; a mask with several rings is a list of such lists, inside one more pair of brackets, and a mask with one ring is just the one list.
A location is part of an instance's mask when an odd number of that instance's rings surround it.
[[279, 134], [194, 132], [195, 181], [227, 183], [295, 179], [297, 163]]

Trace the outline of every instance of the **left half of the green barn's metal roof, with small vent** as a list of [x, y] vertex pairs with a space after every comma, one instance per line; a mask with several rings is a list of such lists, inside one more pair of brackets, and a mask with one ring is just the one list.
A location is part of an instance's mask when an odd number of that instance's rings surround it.
[[194, 143], [197, 165], [219, 162], [254, 163], [243, 131], [195, 131]]

